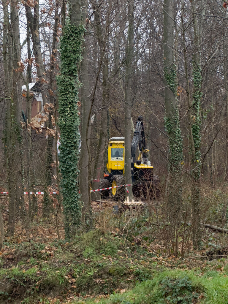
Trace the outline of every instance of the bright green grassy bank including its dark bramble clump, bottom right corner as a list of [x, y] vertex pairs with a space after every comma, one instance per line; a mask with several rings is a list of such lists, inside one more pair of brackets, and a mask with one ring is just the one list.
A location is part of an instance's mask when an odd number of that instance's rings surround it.
[[[113, 293], [108, 299], [72, 303], [100, 304], [226, 304], [228, 277], [196, 276], [193, 271], [163, 271], [124, 293]], [[194, 302], [193, 302], [194, 301]]]

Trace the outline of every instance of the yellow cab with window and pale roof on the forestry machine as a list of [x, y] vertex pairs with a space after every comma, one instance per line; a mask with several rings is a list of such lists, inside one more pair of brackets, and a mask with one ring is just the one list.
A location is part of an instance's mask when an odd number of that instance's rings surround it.
[[114, 175], [124, 174], [124, 137], [109, 140], [107, 169]]

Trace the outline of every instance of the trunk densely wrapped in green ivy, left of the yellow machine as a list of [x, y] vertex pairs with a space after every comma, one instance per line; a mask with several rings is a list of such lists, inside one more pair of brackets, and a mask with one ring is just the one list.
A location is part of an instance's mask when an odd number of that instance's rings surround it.
[[81, 195], [78, 183], [79, 113], [78, 64], [81, 60], [84, 26], [81, 24], [80, 3], [70, 3], [70, 19], [63, 29], [60, 42], [60, 70], [57, 77], [59, 95], [60, 172], [65, 216], [65, 235], [71, 237], [81, 223]]

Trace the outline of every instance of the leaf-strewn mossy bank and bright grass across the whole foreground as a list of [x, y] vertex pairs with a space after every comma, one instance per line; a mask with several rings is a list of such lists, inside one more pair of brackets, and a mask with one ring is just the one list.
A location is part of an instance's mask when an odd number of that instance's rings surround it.
[[228, 303], [225, 258], [183, 262], [163, 257], [159, 246], [151, 250], [147, 240], [137, 241], [93, 230], [71, 243], [7, 243], [0, 256], [0, 302], [44, 302], [51, 293], [68, 302], [93, 297], [88, 304]]

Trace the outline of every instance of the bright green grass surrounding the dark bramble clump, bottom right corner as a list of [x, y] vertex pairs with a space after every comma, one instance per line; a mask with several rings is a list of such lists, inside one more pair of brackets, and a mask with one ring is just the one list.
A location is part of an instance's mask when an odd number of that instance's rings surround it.
[[[192, 281], [192, 290], [199, 292], [202, 299], [198, 299], [201, 304], [226, 304], [228, 303], [228, 277], [220, 273], [205, 274], [203, 276], [194, 275], [193, 271], [163, 271], [161, 274], [154, 276], [153, 280], [147, 280], [136, 285], [135, 288], [128, 292], [114, 293], [109, 299], [101, 299], [100, 304], [165, 304], [162, 295], [161, 282], [165, 278], [177, 279], [188, 277]], [[96, 300], [88, 300], [72, 303], [97, 303]], [[181, 302], [178, 302], [181, 304]]]

